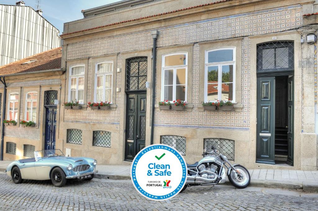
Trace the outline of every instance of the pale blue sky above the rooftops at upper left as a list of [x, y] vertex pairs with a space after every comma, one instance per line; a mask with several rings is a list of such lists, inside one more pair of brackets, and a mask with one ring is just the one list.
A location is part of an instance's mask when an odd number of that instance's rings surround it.
[[[18, 0], [17, 0], [18, 1]], [[16, 0], [0, 0], [0, 4], [15, 5]], [[36, 10], [38, 0], [23, 0], [25, 6], [31, 6]], [[120, 0], [40, 0], [42, 16], [63, 32], [63, 23], [82, 19], [81, 10], [118, 2]]]

